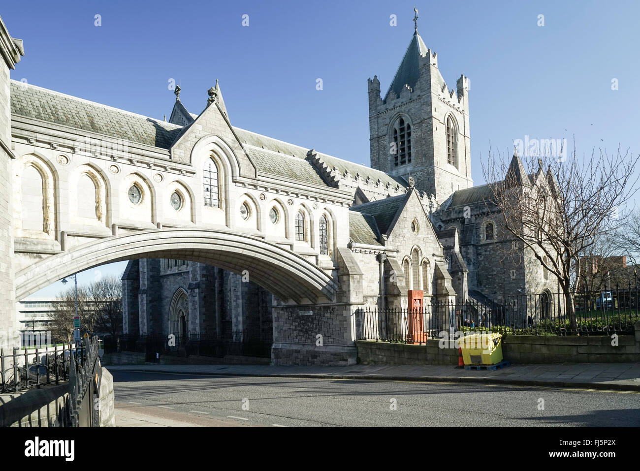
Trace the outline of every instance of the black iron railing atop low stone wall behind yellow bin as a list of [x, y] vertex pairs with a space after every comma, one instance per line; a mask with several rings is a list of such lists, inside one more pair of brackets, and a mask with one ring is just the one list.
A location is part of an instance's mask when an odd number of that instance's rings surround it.
[[640, 320], [638, 289], [582, 292], [568, 314], [561, 292], [502, 296], [497, 301], [433, 301], [420, 309], [365, 308], [355, 313], [356, 338], [422, 344], [442, 332], [498, 332], [524, 335], [629, 335]]

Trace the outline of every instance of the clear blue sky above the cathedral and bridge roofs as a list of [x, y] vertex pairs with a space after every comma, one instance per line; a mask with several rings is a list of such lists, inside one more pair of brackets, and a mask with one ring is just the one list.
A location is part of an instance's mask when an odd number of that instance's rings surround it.
[[170, 79], [189, 111], [200, 113], [217, 78], [234, 125], [367, 165], [366, 81], [377, 74], [386, 92], [417, 6], [420, 35], [438, 53], [449, 88], [460, 74], [471, 80], [476, 184], [484, 183], [480, 162], [490, 143], [511, 152], [525, 136], [566, 138], [572, 148], [575, 135], [580, 154], [618, 145], [640, 152], [637, 1], [28, 5], [0, 7], [26, 50], [14, 79], [162, 119], [175, 99]]

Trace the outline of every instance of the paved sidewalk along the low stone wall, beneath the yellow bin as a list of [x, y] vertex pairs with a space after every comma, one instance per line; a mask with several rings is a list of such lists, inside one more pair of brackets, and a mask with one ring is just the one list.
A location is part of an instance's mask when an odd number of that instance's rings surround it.
[[548, 363], [510, 365], [495, 371], [466, 371], [440, 365], [111, 365], [111, 371], [147, 371], [219, 376], [264, 376], [274, 378], [386, 379], [494, 383], [543, 387], [572, 387], [640, 391], [640, 363]]

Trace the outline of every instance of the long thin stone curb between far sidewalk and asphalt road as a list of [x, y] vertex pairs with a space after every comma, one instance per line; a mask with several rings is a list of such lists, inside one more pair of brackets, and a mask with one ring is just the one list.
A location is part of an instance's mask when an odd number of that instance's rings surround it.
[[159, 371], [148, 369], [116, 369], [113, 371], [142, 371], [148, 373], [193, 374], [199, 376], [237, 376], [258, 378], [310, 378], [310, 379], [365, 379], [367, 381], [422, 381], [425, 383], [483, 383], [493, 385], [541, 386], [553, 388], [588, 388], [614, 391], [640, 391], [639, 385], [620, 383], [579, 383], [577, 381], [534, 381], [532, 379], [460, 378], [458, 376], [382, 376], [371, 374], [323, 374], [323, 373], [220, 373], [194, 371]]

